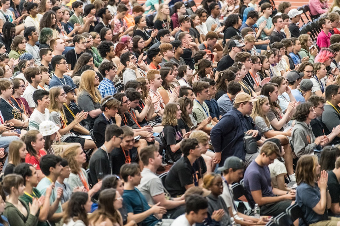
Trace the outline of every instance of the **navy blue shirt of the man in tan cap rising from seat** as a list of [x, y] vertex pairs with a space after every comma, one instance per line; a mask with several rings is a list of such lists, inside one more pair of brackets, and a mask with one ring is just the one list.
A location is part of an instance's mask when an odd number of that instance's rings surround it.
[[[253, 119], [233, 107], [230, 111], [222, 116], [210, 132], [210, 139], [215, 152], [222, 152], [221, 163], [229, 156], [236, 156], [243, 161], [245, 160], [245, 149], [243, 146], [244, 132], [254, 129], [257, 130]], [[261, 133], [258, 132], [256, 140], [261, 139]]]

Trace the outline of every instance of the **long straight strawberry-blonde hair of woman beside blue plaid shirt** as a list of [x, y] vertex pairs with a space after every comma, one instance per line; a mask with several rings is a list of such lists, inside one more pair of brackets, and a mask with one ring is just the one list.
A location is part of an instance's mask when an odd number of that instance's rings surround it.
[[83, 91], [86, 91], [91, 96], [93, 102], [100, 103], [102, 96], [99, 90], [95, 87], [95, 76], [96, 73], [93, 70], [86, 70], [81, 74], [79, 83], [79, 94], [82, 93]]

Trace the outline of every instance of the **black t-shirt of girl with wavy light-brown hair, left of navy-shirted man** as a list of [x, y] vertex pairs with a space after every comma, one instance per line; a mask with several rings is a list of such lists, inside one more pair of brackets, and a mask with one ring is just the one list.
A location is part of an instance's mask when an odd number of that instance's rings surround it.
[[[183, 139], [182, 131], [178, 125], [177, 126], [170, 126], [170, 125], [164, 126], [163, 134], [164, 134], [164, 139], [166, 140], [169, 148], [170, 148], [170, 145], [177, 144], [181, 142], [181, 140]], [[175, 153], [172, 153], [172, 156], [175, 161], [179, 160], [182, 156], [181, 148], [178, 149]], [[170, 159], [170, 156], [168, 156], [168, 159]]]

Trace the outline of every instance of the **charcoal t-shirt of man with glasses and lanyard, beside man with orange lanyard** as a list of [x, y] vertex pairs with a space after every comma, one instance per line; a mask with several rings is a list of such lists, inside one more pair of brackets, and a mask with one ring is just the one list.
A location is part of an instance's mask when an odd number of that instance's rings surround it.
[[93, 184], [96, 184], [98, 179], [103, 179], [106, 175], [111, 174], [110, 161], [110, 154], [101, 148], [98, 148], [98, 150], [91, 156], [89, 169]]

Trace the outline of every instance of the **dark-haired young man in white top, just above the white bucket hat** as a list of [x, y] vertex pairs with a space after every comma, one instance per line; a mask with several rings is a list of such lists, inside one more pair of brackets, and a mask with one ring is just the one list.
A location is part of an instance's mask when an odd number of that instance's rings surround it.
[[49, 92], [43, 89], [35, 90], [33, 101], [37, 107], [33, 110], [28, 125], [30, 129], [39, 130], [40, 123], [50, 118], [50, 111], [47, 109], [50, 104]]

